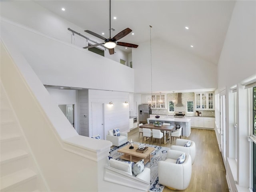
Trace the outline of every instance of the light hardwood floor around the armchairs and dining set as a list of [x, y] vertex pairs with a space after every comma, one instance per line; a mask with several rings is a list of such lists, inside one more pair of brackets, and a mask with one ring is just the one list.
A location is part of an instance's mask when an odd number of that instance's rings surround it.
[[[128, 140], [142, 142], [142, 134], [138, 140], [138, 128], [128, 133]], [[218, 143], [214, 130], [191, 128], [191, 134], [188, 138], [196, 143], [196, 159], [192, 165], [192, 176], [190, 185], [184, 192], [228, 192], [226, 181], [226, 170], [223, 164], [222, 156], [218, 148]], [[148, 141], [146, 142], [148, 143]], [[155, 140], [154, 145], [159, 145]], [[175, 144], [175, 139], [172, 144]], [[170, 147], [172, 144], [162, 144], [161, 146]], [[167, 187], [163, 192], [177, 192]]]

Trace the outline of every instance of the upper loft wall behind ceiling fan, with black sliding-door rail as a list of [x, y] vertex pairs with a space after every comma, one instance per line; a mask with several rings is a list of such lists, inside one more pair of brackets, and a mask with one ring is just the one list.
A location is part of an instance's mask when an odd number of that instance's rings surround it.
[[[68, 28], [96, 42], [102, 42], [101, 39], [84, 32], [85, 29], [76, 26], [32, 1], [1, 1], [0, 14], [12, 21], [58, 38], [64, 42], [72, 43], [80, 48], [88, 46], [86, 39], [77, 34], [72, 36], [72, 32]], [[104, 49], [101, 46], [100, 48]], [[108, 49], [106, 49], [104, 54], [106, 58], [110, 58], [116, 62], [120, 62], [120, 58], [126, 61], [128, 60], [128, 54], [118, 49], [118, 46], [115, 48], [115, 52], [115, 54], [110, 55]]]

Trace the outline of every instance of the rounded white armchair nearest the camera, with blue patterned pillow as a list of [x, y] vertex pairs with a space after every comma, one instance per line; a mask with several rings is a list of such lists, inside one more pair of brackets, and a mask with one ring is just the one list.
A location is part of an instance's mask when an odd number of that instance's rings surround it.
[[184, 190], [190, 184], [192, 174], [192, 164], [190, 154], [185, 153], [185, 161], [176, 164], [182, 151], [168, 150], [165, 161], [158, 163], [159, 183], [172, 189]]

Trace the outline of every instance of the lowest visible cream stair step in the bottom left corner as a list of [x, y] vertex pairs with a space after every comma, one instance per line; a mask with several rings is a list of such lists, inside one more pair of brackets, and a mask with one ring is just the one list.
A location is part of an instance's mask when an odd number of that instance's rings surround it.
[[1, 177], [1, 191], [14, 188], [20, 184], [36, 178], [36, 176], [37, 174], [34, 171], [30, 169], [23, 169], [13, 174]]

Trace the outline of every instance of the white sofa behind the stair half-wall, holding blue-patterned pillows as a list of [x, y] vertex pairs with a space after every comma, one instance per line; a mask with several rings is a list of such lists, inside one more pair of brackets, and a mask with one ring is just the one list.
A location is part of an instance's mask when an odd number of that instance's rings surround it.
[[[112, 168], [116, 168], [118, 170], [124, 171], [127, 174], [132, 175], [132, 167], [131, 164], [127, 163], [127, 162], [122, 162], [122, 161], [118, 161], [115, 159], [110, 159], [109, 160], [109, 166]], [[139, 173], [136, 178], [142, 179], [146, 182], [148, 182], [150, 184], [150, 169], [144, 167], [144, 170]]]

